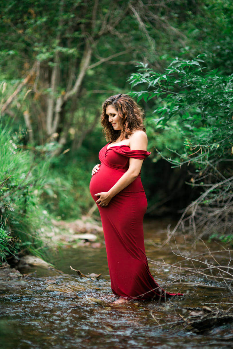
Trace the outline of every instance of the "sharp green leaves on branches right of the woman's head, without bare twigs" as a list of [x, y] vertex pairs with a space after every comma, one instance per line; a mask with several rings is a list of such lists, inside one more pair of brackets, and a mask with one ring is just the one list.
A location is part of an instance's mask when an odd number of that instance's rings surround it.
[[[198, 168], [216, 156], [231, 158], [233, 145], [233, 75], [224, 76], [217, 69], [204, 72], [200, 66], [203, 56], [176, 58], [164, 73], [141, 63], [138, 72], [128, 79], [132, 87], [143, 84], [147, 88], [132, 92], [138, 101], [154, 99], [154, 129], [162, 128], [165, 133], [165, 127], [176, 128], [185, 138], [177, 165], [192, 161]], [[176, 154], [177, 148], [172, 150]]]

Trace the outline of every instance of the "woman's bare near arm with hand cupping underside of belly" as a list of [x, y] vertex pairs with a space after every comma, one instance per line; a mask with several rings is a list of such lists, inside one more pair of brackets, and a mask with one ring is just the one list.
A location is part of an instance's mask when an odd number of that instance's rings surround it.
[[[129, 139], [130, 150], [147, 150], [147, 135], [143, 131], [136, 131]], [[121, 176], [121, 178], [117, 181], [117, 183], [112, 186], [112, 188], [108, 192], [101, 192], [95, 194], [95, 196], [99, 196], [99, 199], [96, 200], [100, 206], [104, 204], [107, 206], [110, 200], [118, 194], [121, 190], [126, 188], [130, 183], [132, 183], [137, 176], [142, 167], [143, 160], [129, 158], [129, 168], [128, 170]]]

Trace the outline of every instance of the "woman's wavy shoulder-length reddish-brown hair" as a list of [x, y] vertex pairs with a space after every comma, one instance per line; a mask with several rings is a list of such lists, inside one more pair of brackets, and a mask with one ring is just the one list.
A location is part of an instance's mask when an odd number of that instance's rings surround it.
[[[114, 106], [118, 111], [120, 124], [123, 128], [122, 133], [121, 130], [115, 131], [111, 125], [111, 122], [108, 121], [108, 116], [106, 115], [106, 108], [108, 105]], [[120, 140], [127, 139], [135, 129], [146, 132], [146, 128], [143, 125], [143, 110], [128, 95], [119, 94], [111, 96], [106, 99], [106, 101], [102, 104], [102, 107], [103, 111], [101, 114], [101, 125], [104, 127], [103, 132], [105, 133], [105, 138], [107, 141], [114, 142], [118, 139], [120, 134]]]

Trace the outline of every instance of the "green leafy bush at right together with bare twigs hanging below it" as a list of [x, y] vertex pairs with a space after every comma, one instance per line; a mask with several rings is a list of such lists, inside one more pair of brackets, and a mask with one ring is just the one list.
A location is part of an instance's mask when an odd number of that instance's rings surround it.
[[137, 101], [154, 102], [154, 117], [147, 117], [150, 132], [164, 137], [168, 131], [177, 133], [178, 142], [167, 147], [169, 155], [161, 147], [157, 157], [167, 159], [173, 167], [195, 166], [190, 184], [201, 187], [203, 193], [184, 212], [192, 211], [188, 219], [195, 233], [211, 235], [214, 230], [226, 235], [232, 230], [233, 218], [233, 74], [206, 71], [201, 66], [203, 57], [173, 59], [163, 73], [140, 63], [128, 81], [132, 88], [143, 86], [131, 92]]

